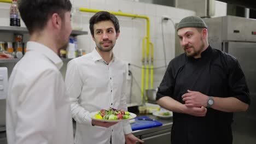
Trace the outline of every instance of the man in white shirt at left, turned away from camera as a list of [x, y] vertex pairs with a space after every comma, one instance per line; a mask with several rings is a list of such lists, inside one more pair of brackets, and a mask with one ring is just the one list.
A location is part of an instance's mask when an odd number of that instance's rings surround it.
[[11, 73], [7, 97], [9, 144], [71, 144], [73, 127], [65, 82], [57, 55], [71, 34], [69, 0], [20, 1], [30, 33], [26, 55]]

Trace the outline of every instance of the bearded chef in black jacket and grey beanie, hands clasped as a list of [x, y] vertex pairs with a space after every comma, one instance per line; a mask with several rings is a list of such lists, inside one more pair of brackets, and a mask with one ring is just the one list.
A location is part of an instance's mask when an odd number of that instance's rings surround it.
[[171, 60], [156, 99], [173, 111], [172, 144], [231, 144], [233, 112], [250, 104], [246, 77], [237, 59], [213, 49], [197, 16], [177, 25], [184, 53]]

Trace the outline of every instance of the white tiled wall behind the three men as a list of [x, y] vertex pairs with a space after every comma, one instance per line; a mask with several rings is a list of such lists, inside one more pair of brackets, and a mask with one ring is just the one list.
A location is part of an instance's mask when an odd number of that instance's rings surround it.
[[[0, 3], [0, 26], [9, 25], [9, 7], [10, 4]], [[191, 10], [124, 0], [74, 0], [73, 7], [122, 11], [123, 13], [148, 16], [150, 19], [150, 41], [152, 41], [152, 43], [154, 44], [155, 68], [165, 65], [162, 40], [162, 26], [164, 29], [167, 64], [174, 57], [175, 29], [171, 21], [166, 21], [162, 23], [162, 15], [167, 15], [171, 17], [174, 22], [179, 22], [185, 16], [195, 15], [195, 12]], [[85, 49], [86, 52], [91, 52], [95, 47], [95, 43], [91, 39], [89, 30], [89, 19], [93, 15], [93, 13], [83, 12], [82, 15], [83, 30], [88, 31], [89, 34], [78, 36], [78, 46], [79, 48]], [[142, 39], [146, 36], [146, 20], [133, 19], [132, 17], [124, 16], [117, 17], [120, 21], [120, 36], [117, 40], [117, 44], [114, 47], [114, 53], [117, 57], [141, 67]], [[21, 23], [21, 25], [24, 26], [24, 23]], [[0, 39], [1, 38], [2, 36], [0, 35]], [[132, 71], [134, 79], [132, 80], [132, 83], [131, 81], [127, 82], [127, 97], [130, 97], [130, 86], [132, 84], [131, 101], [140, 103], [141, 90], [139, 87], [141, 87], [141, 69], [132, 65], [130, 66], [130, 69]], [[63, 76], [65, 76], [65, 73], [66, 65], [62, 68]], [[154, 70], [154, 88], [158, 87], [164, 73], [165, 68], [159, 68]]]

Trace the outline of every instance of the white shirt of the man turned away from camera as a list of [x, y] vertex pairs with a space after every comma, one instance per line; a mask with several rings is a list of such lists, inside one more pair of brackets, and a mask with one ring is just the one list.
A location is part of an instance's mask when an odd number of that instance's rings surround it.
[[73, 127], [61, 59], [29, 41], [9, 80], [6, 128], [9, 144], [71, 144]]

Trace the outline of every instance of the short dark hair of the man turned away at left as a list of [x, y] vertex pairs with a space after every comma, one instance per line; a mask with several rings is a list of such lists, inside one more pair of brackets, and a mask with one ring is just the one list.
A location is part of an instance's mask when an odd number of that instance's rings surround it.
[[54, 13], [59, 14], [62, 20], [65, 19], [64, 14], [72, 8], [69, 0], [20, 0], [18, 5], [30, 34], [42, 30]]

